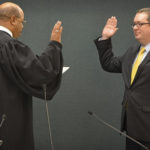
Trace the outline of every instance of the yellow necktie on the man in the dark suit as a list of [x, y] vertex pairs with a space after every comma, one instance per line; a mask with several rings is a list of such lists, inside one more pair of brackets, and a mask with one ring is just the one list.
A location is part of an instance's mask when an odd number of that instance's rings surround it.
[[140, 49], [140, 52], [139, 52], [139, 54], [138, 54], [138, 56], [137, 56], [137, 59], [136, 59], [134, 65], [133, 65], [133, 67], [132, 67], [131, 84], [132, 84], [132, 82], [133, 82], [133, 80], [134, 80], [134, 77], [135, 77], [135, 75], [136, 75], [136, 72], [137, 72], [137, 70], [138, 70], [138, 67], [139, 67], [139, 65], [140, 65], [140, 63], [141, 63], [141, 61], [142, 61], [144, 51], [145, 51], [145, 48], [142, 47], [142, 48]]

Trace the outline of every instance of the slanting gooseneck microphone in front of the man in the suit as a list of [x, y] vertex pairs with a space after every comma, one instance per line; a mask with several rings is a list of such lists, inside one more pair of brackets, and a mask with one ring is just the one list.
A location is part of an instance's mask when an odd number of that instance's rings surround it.
[[135, 142], [136, 144], [140, 145], [141, 147], [143, 147], [145, 150], [149, 150], [148, 147], [146, 147], [145, 145], [143, 145], [142, 143], [140, 143], [139, 141], [135, 140], [134, 138], [132, 138], [131, 136], [125, 134], [124, 132], [121, 132], [120, 130], [118, 130], [117, 128], [113, 127], [112, 125], [110, 125], [109, 123], [105, 122], [104, 120], [102, 120], [100, 117], [98, 117], [95, 113], [93, 113], [92, 111], [88, 111], [88, 114], [91, 116], [94, 116], [96, 118], [96, 120], [98, 120], [100, 123], [106, 125], [107, 127], [113, 129], [114, 131], [118, 132], [119, 134], [125, 136], [126, 138], [132, 140], [133, 142]]

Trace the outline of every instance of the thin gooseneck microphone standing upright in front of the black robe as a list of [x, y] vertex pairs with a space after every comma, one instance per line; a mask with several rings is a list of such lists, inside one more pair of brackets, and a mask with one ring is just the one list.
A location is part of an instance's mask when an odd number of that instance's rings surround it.
[[45, 100], [45, 106], [46, 106], [49, 138], [50, 138], [51, 148], [52, 148], [52, 150], [54, 150], [53, 140], [52, 140], [52, 131], [51, 131], [51, 125], [50, 125], [50, 116], [49, 116], [48, 103], [47, 103], [47, 98], [46, 98], [46, 84], [43, 84], [42, 87], [43, 87], [43, 91], [44, 91], [44, 100]]

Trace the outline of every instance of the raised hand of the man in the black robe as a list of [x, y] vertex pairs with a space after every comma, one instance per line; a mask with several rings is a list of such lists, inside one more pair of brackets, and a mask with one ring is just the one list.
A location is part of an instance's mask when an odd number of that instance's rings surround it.
[[57, 23], [54, 25], [54, 28], [51, 33], [51, 38], [50, 38], [51, 41], [57, 41], [61, 43], [61, 33], [63, 30], [61, 24], [62, 24], [61, 21], [57, 21]]

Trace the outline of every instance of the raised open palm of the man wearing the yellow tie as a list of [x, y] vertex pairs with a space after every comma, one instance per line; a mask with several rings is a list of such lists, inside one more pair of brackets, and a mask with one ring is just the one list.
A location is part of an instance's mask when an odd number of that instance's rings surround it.
[[112, 16], [106, 22], [106, 25], [102, 31], [102, 40], [111, 38], [117, 32], [117, 19]]

